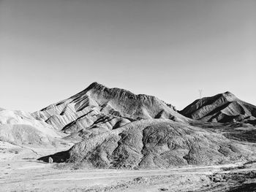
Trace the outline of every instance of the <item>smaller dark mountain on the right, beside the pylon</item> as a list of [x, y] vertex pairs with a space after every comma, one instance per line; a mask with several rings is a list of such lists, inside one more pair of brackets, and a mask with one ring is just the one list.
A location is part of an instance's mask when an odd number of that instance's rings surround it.
[[256, 106], [241, 101], [230, 92], [197, 99], [180, 113], [194, 120], [256, 124]]

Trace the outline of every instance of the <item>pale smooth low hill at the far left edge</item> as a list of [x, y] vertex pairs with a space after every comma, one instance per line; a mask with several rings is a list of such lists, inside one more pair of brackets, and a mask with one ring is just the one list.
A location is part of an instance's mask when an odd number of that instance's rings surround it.
[[54, 130], [42, 120], [36, 120], [29, 112], [1, 110], [0, 140], [15, 145], [54, 145], [64, 134]]

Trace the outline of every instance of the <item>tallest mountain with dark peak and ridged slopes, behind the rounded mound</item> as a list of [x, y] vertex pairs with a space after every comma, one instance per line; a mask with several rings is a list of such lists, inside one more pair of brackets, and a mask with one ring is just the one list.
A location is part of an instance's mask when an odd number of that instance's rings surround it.
[[157, 97], [107, 88], [97, 82], [69, 99], [34, 112], [33, 116], [69, 134], [90, 126], [117, 128], [141, 119], [187, 120]]

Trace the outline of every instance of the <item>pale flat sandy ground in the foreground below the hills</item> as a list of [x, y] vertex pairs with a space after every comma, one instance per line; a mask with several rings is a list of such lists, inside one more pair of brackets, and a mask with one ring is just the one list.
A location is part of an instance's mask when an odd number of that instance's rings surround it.
[[256, 191], [254, 163], [154, 170], [70, 170], [37, 161], [40, 155], [54, 153], [54, 148], [31, 150], [0, 144], [0, 191]]

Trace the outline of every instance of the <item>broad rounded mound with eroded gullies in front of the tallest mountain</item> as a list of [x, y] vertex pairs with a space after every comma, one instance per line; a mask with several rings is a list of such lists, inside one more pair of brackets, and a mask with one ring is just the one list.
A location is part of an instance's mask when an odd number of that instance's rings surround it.
[[89, 131], [97, 134], [66, 152], [50, 155], [53, 161], [97, 168], [156, 169], [225, 164], [243, 161], [246, 156], [244, 149], [221, 134], [173, 120], [139, 120], [113, 130]]

